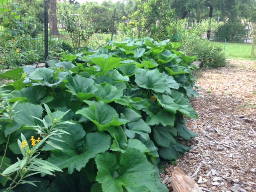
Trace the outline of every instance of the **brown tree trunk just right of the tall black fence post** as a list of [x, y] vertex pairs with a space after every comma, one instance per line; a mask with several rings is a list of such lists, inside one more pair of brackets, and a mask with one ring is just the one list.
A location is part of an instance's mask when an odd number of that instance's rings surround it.
[[50, 34], [51, 35], [59, 35], [58, 27], [57, 27], [57, 1], [50, 0]]

